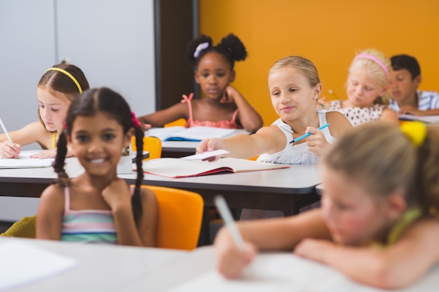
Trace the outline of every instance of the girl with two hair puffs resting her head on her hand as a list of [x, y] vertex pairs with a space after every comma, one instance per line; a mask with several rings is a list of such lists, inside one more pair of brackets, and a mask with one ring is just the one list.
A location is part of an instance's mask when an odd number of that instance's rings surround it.
[[192, 99], [183, 95], [180, 104], [139, 118], [152, 127], [163, 127], [173, 120], [184, 118], [186, 127], [209, 126], [245, 129], [256, 132], [262, 127], [259, 113], [248, 104], [241, 92], [230, 85], [235, 80], [235, 61], [245, 60], [245, 46], [234, 34], [224, 37], [217, 46], [209, 36], [201, 35], [191, 41], [187, 59], [195, 68], [195, 81], [205, 95]]

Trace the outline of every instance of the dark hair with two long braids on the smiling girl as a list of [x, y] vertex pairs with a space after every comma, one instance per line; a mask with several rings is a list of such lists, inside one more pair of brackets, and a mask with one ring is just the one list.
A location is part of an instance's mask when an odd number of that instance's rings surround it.
[[[81, 95], [73, 99], [72, 104], [67, 111], [65, 129], [60, 134], [57, 143], [57, 155], [53, 168], [58, 174], [58, 179], [54, 183], [60, 186], [69, 185], [69, 176], [65, 172], [65, 158], [67, 155], [67, 137], [72, 134], [74, 120], [78, 116], [95, 116], [96, 113], [103, 112], [114, 118], [122, 127], [123, 134], [126, 134], [131, 128], [135, 129], [135, 142], [137, 149], [143, 149], [144, 132], [139, 127], [135, 116], [130, 110], [130, 106], [119, 93], [109, 88], [97, 88], [86, 90]], [[137, 179], [135, 181], [135, 190], [131, 199], [133, 215], [135, 221], [142, 215], [142, 202], [140, 198], [140, 186], [143, 181], [142, 169], [142, 151], [137, 151], [136, 156]]]

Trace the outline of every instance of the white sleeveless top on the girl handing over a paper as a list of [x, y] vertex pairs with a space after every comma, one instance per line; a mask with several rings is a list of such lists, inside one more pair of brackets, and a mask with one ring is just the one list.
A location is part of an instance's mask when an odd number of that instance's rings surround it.
[[[326, 111], [320, 111], [317, 109], [318, 113], [318, 123], [319, 126], [326, 125]], [[261, 162], [271, 162], [271, 163], [280, 163], [280, 164], [288, 164], [288, 165], [311, 165], [316, 164], [318, 161], [318, 155], [308, 150], [308, 146], [306, 143], [301, 144], [290, 144], [292, 141], [292, 129], [290, 125], [286, 124], [278, 118], [273, 124], [281, 129], [281, 131], [287, 137], [287, 143], [283, 150], [278, 151], [276, 153], [264, 153], [259, 155], [257, 161]], [[332, 137], [329, 127], [325, 127], [325, 129], [321, 130], [325, 139], [328, 143], [332, 144], [335, 141], [335, 138]]]

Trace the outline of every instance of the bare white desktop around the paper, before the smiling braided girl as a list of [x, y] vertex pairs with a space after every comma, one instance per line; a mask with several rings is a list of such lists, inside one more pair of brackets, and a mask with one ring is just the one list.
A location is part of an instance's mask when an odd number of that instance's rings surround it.
[[[78, 244], [10, 237], [0, 237], [0, 249], [2, 243], [11, 241], [37, 246], [73, 258], [78, 262], [78, 265], [70, 270], [13, 290], [18, 292], [121, 291], [124, 286], [139, 281], [154, 271], [189, 256], [189, 251], [171, 249]], [[23, 265], [26, 263], [24, 262]]]

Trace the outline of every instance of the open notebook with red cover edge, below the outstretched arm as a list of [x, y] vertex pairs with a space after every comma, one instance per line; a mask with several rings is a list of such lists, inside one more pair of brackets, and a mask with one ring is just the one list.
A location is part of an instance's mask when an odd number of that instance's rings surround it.
[[290, 165], [257, 162], [239, 158], [221, 158], [215, 162], [183, 160], [180, 158], [156, 158], [143, 162], [143, 171], [173, 179], [208, 174], [257, 172], [259, 170], [288, 168]]

